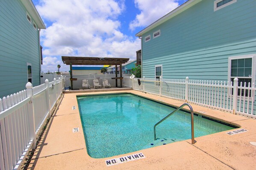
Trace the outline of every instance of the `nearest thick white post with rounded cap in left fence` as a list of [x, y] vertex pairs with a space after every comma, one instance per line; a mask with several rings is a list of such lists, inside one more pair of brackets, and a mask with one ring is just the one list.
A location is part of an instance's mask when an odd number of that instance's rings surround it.
[[33, 85], [30, 82], [26, 84], [27, 97], [30, 98], [30, 102], [27, 103], [28, 123], [30, 140], [33, 140], [33, 149], [36, 149], [36, 125], [35, 125], [35, 111], [33, 105]]

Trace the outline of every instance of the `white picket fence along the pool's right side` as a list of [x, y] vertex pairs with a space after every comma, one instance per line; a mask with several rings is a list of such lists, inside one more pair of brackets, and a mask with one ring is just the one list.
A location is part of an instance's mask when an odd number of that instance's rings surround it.
[[138, 78], [124, 77], [124, 86], [135, 90], [256, 117], [254, 83], [238, 86], [237, 78], [234, 82], [223, 82], [143, 77], [140, 83]]

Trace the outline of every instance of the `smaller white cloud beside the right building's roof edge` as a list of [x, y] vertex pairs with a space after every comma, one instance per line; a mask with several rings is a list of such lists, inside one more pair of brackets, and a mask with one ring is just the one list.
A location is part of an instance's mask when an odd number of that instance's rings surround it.
[[134, 30], [136, 27], [149, 26], [159, 18], [168, 14], [179, 6], [178, 0], [134, 0], [134, 3], [140, 14], [136, 15], [136, 19], [131, 21], [129, 28]]

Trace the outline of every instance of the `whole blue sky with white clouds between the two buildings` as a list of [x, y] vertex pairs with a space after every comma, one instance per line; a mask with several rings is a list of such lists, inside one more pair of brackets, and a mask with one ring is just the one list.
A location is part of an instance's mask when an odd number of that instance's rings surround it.
[[40, 31], [43, 72], [69, 71], [61, 56], [136, 59], [135, 35], [187, 0], [32, 0]]

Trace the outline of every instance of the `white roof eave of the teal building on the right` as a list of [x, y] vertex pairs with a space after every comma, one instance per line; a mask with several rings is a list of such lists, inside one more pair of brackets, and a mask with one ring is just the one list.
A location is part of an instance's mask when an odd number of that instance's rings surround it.
[[164, 23], [167, 20], [170, 20], [172, 17], [175, 17], [176, 15], [182, 13], [186, 9], [190, 8], [191, 6], [195, 5], [196, 3], [199, 3], [202, 0], [188, 0], [182, 5], [178, 6], [176, 9], [173, 9], [173, 11], [169, 12], [168, 14], [164, 15], [160, 19], [156, 20], [154, 23], [147, 26], [142, 31], [138, 32], [135, 36], [141, 37], [144, 33], [150, 31], [151, 29], [154, 29], [155, 27], [159, 26], [161, 23]]

